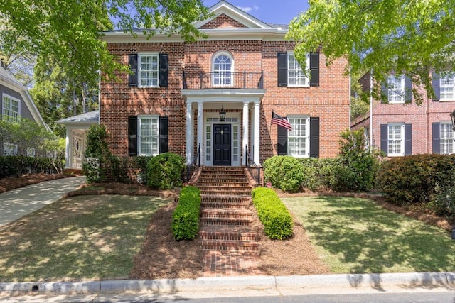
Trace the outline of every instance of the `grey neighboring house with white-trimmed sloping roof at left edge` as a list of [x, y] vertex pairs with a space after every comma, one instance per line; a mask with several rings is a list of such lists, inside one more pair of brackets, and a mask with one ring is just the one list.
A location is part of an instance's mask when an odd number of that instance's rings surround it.
[[[0, 66], [0, 97], [1, 120], [18, 122], [21, 119], [28, 119], [50, 130], [31, 99], [28, 89], [3, 66]], [[11, 136], [8, 133], [0, 133], [0, 155], [35, 155], [35, 148], [18, 145]]]

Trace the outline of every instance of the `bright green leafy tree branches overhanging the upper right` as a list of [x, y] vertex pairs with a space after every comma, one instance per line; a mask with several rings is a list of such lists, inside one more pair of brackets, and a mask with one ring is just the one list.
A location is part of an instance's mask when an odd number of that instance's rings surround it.
[[[346, 73], [372, 70], [373, 94], [397, 72], [434, 95], [429, 72], [455, 72], [453, 0], [310, 0], [309, 10], [294, 18], [287, 38], [296, 40], [296, 57], [321, 49], [328, 65], [346, 58]], [[369, 93], [369, 92], [368, 92]], [[417, 104], [422, 95], [413, 90]]]

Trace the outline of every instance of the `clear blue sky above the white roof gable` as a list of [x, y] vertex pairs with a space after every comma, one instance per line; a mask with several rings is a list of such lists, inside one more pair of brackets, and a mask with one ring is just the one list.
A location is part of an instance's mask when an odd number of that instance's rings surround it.
[[[219, 0], [203, 0], [213, 6]], [[265, 23], [289, 24], [302, 11], [308, 9], [308, 0], [227, 0], [230, 4], [250, 13]]]

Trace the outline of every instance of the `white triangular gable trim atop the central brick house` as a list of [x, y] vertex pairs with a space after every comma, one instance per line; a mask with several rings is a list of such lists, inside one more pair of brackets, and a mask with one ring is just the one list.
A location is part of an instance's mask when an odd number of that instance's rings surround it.
[[247, 28], [271, 28], [267, 23], [260, 21], [259, 19], [251, 16], [249, 13], [242, 11], [241, 9], [237, 8], [237, 6], [233, 6], [224, 0], [210, 7], [209, 11], [210, 13], [213, 13], [213, 18], [198, 21], [196, 23], [193, 23], [193, 26], [200, 28], [201, 26], [204, 26], [206, 23], [212, 21], [224, 13], [226, 16], [234, 19], [239, 23], [242, 23], [244, 26], [247, 26]]

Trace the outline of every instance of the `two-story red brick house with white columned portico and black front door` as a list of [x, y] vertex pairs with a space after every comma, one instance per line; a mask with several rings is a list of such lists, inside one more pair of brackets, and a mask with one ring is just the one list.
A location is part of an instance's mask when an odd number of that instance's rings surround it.
[[[335, 157], [350, 126], [346, 60], [326, 67], [322, 54], [309, 54], [310, 80], [295, 43], [284, 40], [287, 26], [227, 1], [210, 10], [213, 18], [195, 24], [208, 38], [193, 43], [178, 35], [105, 33], [110, 52], [133, 72], [118, 75], [122, 82], [101, 82], [100, 123], [114, 154], [170, 151], [188, 164], [231, 166], [245, 165], [247, 151], [257, 164], [277, 154]], [[292, 131], [272, 125], [272, 111], [287, 117]]]

